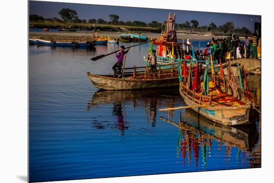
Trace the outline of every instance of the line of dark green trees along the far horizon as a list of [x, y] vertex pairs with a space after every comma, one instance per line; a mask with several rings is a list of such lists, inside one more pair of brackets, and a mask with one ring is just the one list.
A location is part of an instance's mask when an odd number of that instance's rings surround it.
[[[102, 18], [91, 18], [89, 20], [79, 19], [78, 14], [75, 10], [69, 8], [61, 9], [58, 14], [62, 18], [59, 19], [57, 17], [53, 18], [44, 18], [43, 16], [39, 16], [37, 14], [29, 15], [30, 21], [50, 21], [50, 22], [58, 22], [58, 23], [97, 23], [97, 24], [109, 24], [109, 25], [127, 25], [127, 26], [139, 26], [139, 27], [153, 27], [161, 29], [161, 22], [151, 21], [150, 23], [145, 23], [142, 21], [119, 21], [119, 15], [110, 14], [109, 21], [106, 21]], [[164, 21], [166, 22], [166, 21]], [[188, 30], [203, 30], [203, 31], [212, 31], [214, 32], [223, 32], [223, 33], [240, 33], [240, 34], [251, 34], [251, 31], [246, 28], [235, 28], [232, 21], [226, 22], [223, 25], [217, 26], [213, 22], [209, 25], [199, 26], [199, 22], [197, 20], [185, 21], [184, 23], [175, 23], [176, 29], [188, 29]]]

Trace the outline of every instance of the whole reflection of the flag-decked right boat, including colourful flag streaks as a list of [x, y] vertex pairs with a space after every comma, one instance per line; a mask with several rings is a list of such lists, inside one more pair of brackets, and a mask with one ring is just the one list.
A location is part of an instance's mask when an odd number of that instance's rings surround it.
[[[203, 166], [206, 169], [207, 159], [210, 157], [211, 151], [217, 151], [212, 149], [214, 147], [218, 147], [219, 157], [221, 157], [221, 153], [225, 154], [226, 160], [224, 162], [229, 166], [232, 147], [236, 147], [238, 148], [236, 159], [239, 164], [248, 159], [250, 167], [261, 167], [261, 148], [255, 148], [259, 139], [255, 124], [225, 126], [214, 123], [191, 109], [184, 109], [182, 115], [180, 113], [179, 123], [164, 117], [160, 117], [160, 119], [179, 128], [177, 158], [181, 154], [183, 166], [191, 164], [191, 157], [195, 158], [195, 166], [198, 166], [199, 156], [202, 156]], [[217, 142], [218, 145], [212, 145], [213, 142]], [[258, 146], [261, 145], [258, 144]], [[239, 159], [241, 152], [242, 160]]]

